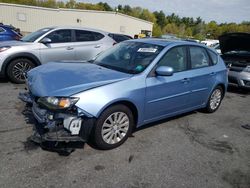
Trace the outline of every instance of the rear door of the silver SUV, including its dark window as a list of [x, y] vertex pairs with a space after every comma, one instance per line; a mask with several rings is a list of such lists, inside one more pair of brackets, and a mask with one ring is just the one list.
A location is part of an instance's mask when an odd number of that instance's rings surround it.
[[74, 51], [77, 60], [91, 60], [102, 52], [105, 36], [98, 32], [74, 30]]

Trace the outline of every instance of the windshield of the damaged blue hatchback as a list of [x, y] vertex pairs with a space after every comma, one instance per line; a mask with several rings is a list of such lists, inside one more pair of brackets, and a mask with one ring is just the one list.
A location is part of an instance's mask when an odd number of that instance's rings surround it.
[[138, 74], [155, 59], [162, 46], [142, 42], [122, 42], [100, 54], [94, 63], [109, 69]]

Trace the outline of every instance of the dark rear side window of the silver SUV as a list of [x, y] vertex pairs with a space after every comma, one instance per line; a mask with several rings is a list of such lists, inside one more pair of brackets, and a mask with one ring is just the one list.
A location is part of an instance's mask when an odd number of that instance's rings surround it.
[[76, 30], [76, 42], [101, 40], [104, 35], [93, 31]]

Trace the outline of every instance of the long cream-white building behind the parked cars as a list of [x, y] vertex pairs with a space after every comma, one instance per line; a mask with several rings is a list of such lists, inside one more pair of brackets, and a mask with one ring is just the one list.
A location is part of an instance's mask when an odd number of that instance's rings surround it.
[[48, 26], [83, 26], [130, 36], [151, 31], [153, 23], [119, 12], [52, 9], [0, 3], [0, 22], [13, 25], [24, 33]]

